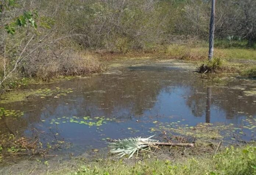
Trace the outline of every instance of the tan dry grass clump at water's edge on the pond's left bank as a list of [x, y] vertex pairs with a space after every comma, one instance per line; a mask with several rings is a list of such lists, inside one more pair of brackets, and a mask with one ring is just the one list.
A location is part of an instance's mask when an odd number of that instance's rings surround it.
[[62, 53], [59, 57], [48, 57], [43, 61], [29, 64], [29, 75], [43, 81], [58, 76], [82, 76], [102, 71], [99, 59], [90, 53]]

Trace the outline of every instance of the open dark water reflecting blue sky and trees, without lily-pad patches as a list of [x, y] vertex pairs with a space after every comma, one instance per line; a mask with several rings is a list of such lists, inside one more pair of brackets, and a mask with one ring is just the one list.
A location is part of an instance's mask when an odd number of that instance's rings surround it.
[[[199, 122], [242, 124], [248, 116], [256, 117], [255, 96], [245, 96], [243, 80], [232, 79], [219, 84], [203, 79], [192, 71], [170, 67], [128, 67], [121, 74], [94, 75], [31, 88], [72, 88], [73, 93], [60, 98], [35, 98], [15, 104], [3, 104], [6, 109], [25, 111], [21, 118], [0, 119], [0, 132], [19, 130], [26, 135], [33, 128], [44, 131], [49, 138], [58, 137], [77, 146], [99, 146], [104, 137], [122, 138], [149, 135], [154, 121], [184, 124]], [[245, 89], [250, 86], [243, 85]], [[63, 117], [104, 116], [113, 119], [99, 127], [62, 122]], [[55, 119], [59, 124], [51, 124]], [[136, 122], [136, 121], [139, 122]], [[99, 128], [99, 129], [98, 129]], [[131, 132], [127, 128], [132, 128]]]

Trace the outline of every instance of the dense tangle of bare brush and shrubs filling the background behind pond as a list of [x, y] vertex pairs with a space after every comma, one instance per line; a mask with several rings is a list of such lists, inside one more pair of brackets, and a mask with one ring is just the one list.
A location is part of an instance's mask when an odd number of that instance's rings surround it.
[[[21, 78], [99, 72], [99, 53], [167, 52], [171, 44], [185, 50], [208, 40], [210, 0], [17, 0], [5, 9], [4, 3], [8, 0], [0, 1], [0, 79], [19, 59], [2, 84], [9, 88]], [[26, 25], [7, 33], [6, 24], [35, 10], [37, 29]], [[255, 11], [255, 0], [218, 0], [217, 46], [255, 48]]]

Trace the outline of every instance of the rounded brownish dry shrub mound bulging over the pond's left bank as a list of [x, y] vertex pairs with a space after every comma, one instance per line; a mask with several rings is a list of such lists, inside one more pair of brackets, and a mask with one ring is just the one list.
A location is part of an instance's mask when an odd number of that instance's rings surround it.
[[58, 76], [81, 76], [102, 71], [98, 58], [90, 53], [42, 48], [31, 55], [20, 68], [25, 77], [49, 81]]

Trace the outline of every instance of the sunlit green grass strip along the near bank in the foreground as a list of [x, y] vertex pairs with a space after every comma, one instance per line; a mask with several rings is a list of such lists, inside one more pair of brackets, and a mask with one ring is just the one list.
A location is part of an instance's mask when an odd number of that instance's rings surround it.
[[60, 166], [49, 174], [76, 175], [255, 175], [256, 147], [246, 146], [226, 148], [219, 154], [200, 157], [187, 157], [180, 160], [97, 160], [85, 163], [75, 162], [75, 167]]

